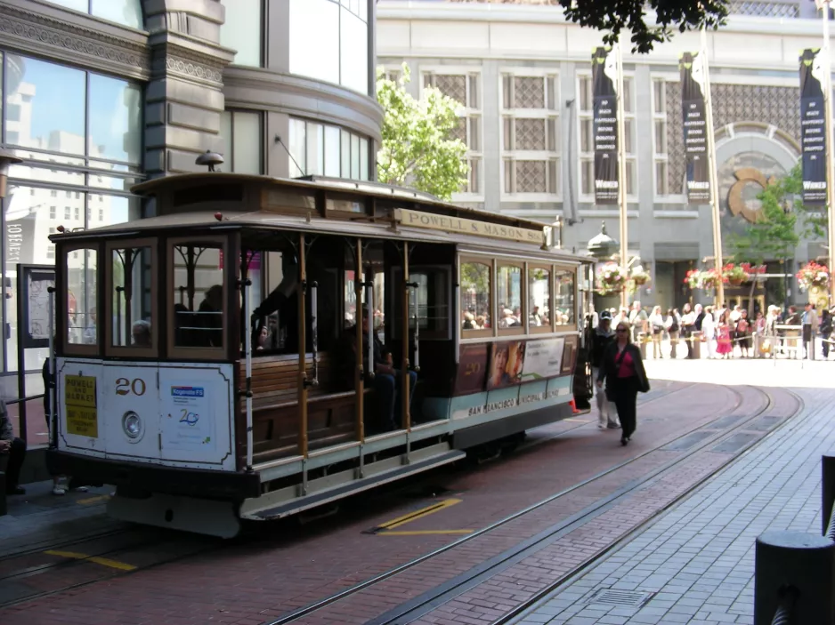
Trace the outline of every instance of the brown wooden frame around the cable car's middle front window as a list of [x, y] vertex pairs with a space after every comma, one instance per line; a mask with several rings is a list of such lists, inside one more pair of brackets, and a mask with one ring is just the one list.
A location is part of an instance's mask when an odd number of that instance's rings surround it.
[[[159, 295], [159, 254], [158, 254], [158, 238], [130, 238], [120, 239], [117, 241], [109, 241], [104, 244], [104, 255], [106, 264], [104, 266], [104, 286], [107, 298], [104, 301], [105, 319], [104, 319], [104, 356], [105, 357], [137, 357], [137, 358], [158, 358], [159, 357], [159, 329], [162, 324], [151, 320], [150, 333], [150, 348], [136, 348], [130, 345], [113, 345], [113, 257], [114, 250], [124, 250], [126, 247], [150, 248], [150, 310], [151, 314], [158, 317], [158, 295]], [[138, 321], [138, 319], [137, 319]], [[155, 328], [154, 325], [157, 327]]]

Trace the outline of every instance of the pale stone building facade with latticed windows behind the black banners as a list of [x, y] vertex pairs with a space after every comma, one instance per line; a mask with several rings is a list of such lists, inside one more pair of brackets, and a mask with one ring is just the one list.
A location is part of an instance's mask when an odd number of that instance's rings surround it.
[[[471, 172], [456, 200], [545, 222], [562, 217], [563, 244], [581, 251], [602, 220], [610, 235], [618, 232], [617, 207], [596, 205], [592, 188], [590, 57], [602, 36], [540, 4], [547, 3], [381, 0], [377, 58], [393, 74], [407, 62], [414, 95], [434, 84], [463, 104]], [[741, 172], [753, 168], [768, 180], [799, 158], [799, 54], [820, 47], [822, 32], [813, 3], [731, 8], [727, 26], [707, 35], [726, 235], [758, 208], [761, 187], [752, 180], [743, 182], [744, 214], [728, 206]], [[636, 295], [644, 304], [704, 297], [683, 279], [689, 268], [711, 266], [714, 255], [709, 206], [685, 197], [677, 62], [700, 48], [700, 34], [687, 33], [646, 55], [629, 53], [627, 41], [623, 55], [628, 249], [653, 274]], [[804, 240], [788, 267], [773, 259], [769, 272], [793, 272], [825, 253], [822, 242]], [[782, 288], [772, 280], [767, 296], [782, 303]]]

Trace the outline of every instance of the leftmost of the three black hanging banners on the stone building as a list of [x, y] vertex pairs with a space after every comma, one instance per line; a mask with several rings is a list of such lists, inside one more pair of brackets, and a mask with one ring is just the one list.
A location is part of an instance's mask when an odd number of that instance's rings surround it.
[[618, 204], [617, 62], [610, 48], [597, 48], [591, 55], [596, 204]]

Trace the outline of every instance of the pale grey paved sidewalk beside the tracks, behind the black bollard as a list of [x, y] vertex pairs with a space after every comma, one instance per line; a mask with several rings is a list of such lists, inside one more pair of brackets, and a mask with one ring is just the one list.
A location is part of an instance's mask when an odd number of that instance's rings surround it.
[[835, 391], [797, 392], [802, 413], [515, 623], [753, 623], [758, 535], [821, 531]]

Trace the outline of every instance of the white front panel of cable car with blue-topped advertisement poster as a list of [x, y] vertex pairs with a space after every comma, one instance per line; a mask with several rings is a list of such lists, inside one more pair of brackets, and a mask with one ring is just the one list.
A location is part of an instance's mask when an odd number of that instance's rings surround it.
[[232, 365], [159, 368], [164, 464], [235, 470], [232, 383]]

